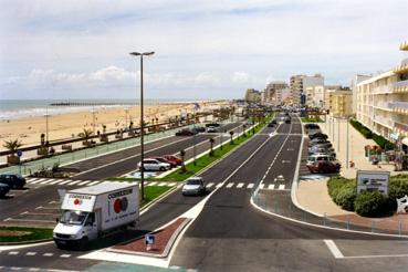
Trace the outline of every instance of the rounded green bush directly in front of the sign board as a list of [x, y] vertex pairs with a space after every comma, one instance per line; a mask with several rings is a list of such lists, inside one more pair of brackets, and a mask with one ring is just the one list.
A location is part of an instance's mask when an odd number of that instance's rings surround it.
[[379, 191], [364, 191], [354, 201], [355, 211], [363, 217], [377, 217], [386, 212], [386, 199]]

